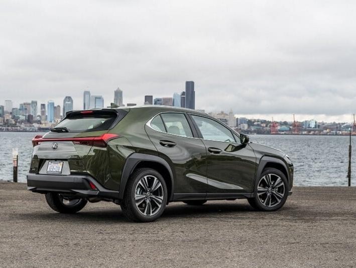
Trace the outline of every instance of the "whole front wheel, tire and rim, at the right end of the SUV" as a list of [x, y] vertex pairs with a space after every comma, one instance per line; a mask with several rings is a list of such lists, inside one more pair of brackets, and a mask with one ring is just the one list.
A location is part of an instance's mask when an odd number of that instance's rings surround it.
[[266, 168], [256, 182], [254, 197], [249, 198], [250, 205], [261, 211], [280, 209], [288, 197], [288, 181], [282, 171]]

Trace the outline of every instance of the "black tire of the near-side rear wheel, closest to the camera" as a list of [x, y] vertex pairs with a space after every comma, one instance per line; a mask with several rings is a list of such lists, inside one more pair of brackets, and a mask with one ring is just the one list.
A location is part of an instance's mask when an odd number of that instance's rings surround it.
[[[157, 178], [160, 183], [160, 188], [156, 191], [152, 191], [152, 189], [149, 187], [148, 191], [144, 190], [140, 182], [142, 182], [142, 180], [145, 180], [145, 178], [147, 178], [148, 180], [148, 186], [152, 188], [155, 182], [155, 178]], [[147, 197], [147, 194], [151, 194], [151, 196]], [[141, 203], [137, 205], [135, 195], [137, 195], [138, 197], [146, 196], [146, 198], [144, 198], [143, 201], [142, 199], [140, 199], [138, 203]], [[159, 197], [160, 199], [162, 199], [160, 207], [158, 203], [154, 200], [154, 197]], [[132, 173], [126, 185], [124, 199], [121, 203], [121, 209], [123, 211], [123, 214], [130, 221], [152, 222], [157, 220], [162, 215], [163, 211], [166, 208], [167, 198], [167, 186], [162, 175], [158, 171], [151, 168], [139, 168]], [[150, 215], [151, 213], [148, 209], [146, 209], [148, 206], [151, 210], [153, 208], [152, 213], [154, 214]]]

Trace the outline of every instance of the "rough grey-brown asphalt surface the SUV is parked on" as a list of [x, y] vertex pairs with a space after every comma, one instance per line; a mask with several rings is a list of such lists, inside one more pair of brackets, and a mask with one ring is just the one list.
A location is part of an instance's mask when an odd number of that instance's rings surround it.
[[356, 267], [354, 187], [295, 187], [267, 213], [246, 200], [171, 203], [153, 223], [106, 202], [59, 214], [25, 189], [0, 183], [1, 267]]

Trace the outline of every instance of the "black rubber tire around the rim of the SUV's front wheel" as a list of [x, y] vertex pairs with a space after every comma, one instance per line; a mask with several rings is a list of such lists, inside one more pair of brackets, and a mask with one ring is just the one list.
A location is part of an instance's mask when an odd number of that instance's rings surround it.
[[[277, 178], [280, 177], [282, 182], [283, 182], [284, 192], [283, 192], [283, 197], [280, 198], [279, 203], [277, 203], [278, 199], [275, 196], [276, 195], [275, 192], [268, 192], [268, 190], [267, 191], [263, 190], [263, 194], [261, 194], [262, 192], [258, 192], [258, 187], [259, 187], [260, 181], [263, 180], [263, 178], [268, 174], [272, 175], [272, 179], [271, 179], [272, 181], [274, 180], [274, 178], [277, 181]], [[266, 185], [267, 185], [267, 183], [266, 183]], [[272, 185], [271, 188], [273, 189], [273, 183], [271, 185]], [[266, 189], [268, 189], [268, 187]], [[280, 186], [277, 191], [282, 192], [281, 189], [282, 189], [282, 186]], [[281, 170], [276, 169], [276, 168], [266, 168], [266, 169], [263, 170], [263, 172], [261, 174], [261, 177], [259, 177], [256, 180], [255, 189], [254, 189], [254, 197], [253, 198], [248, 198], [248, 202], [256, 210], [260, 210], [260, 211], [275, 211], [275, 210], [278, 210], [281, 207], [283, 207], [284, 203], [286, 203], [287, 197], [288, 197], [288, 191], [289, 191], [288, 181], [287, 181], [287, 178], [284, 175], [284, 173]], [[259, 197], [259, 195], [258, 195], [259, 193], [260, 193], [261, 197]], [[274, 200], [273, 202], [276, 202], [275, 205], [272, 204], [271, 206], [269, 206], [268, 204], [267, 205], [264, 204], [263, 200], [265, 201], [265, 203], [267, 203], [269, 201], [268, 196], [267, 196], [268, 194], [270, 196], [270, 199]], [[277, 192], [277, 194], [282, 196], [282, 194], [279, 193], [279, 192]]]

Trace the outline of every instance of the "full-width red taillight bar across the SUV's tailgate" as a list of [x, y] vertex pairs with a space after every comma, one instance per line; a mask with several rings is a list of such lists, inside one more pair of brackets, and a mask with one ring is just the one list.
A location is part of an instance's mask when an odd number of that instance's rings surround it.
[[46, 141], [72, 141], [74, 144], [89, 145], [96, 147], [106, 147], [107, 142], [120, 137], [117, 134], [105, 133], [97, 137], [78, 137], [78, 138], [49, 138], [44, 139], [42, 136], [38, 135], [32, 139], [33, 146]]

